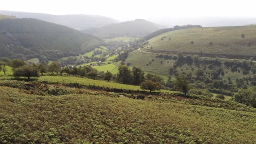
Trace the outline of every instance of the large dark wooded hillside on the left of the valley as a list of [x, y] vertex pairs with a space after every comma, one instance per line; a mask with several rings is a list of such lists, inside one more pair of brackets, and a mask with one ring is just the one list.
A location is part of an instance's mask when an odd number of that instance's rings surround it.
[[48, 61], [79, 55], [101, 43], [92, 35], [37, 19], [0, 20], [0, 57]]

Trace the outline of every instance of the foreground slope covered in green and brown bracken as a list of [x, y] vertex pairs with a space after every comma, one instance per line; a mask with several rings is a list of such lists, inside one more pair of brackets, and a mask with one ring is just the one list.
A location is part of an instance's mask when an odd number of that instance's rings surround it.
[[3, 83], [0, 143], [256, 143], [256, 110], [235, 102]]

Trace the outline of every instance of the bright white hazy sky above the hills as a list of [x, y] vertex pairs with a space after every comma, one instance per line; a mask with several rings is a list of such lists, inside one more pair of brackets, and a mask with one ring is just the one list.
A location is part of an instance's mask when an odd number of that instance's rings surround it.
[[149, 17], [256, 17], [255, 0], [2, 0], [0, 10], [90, 14], [118, 20]]

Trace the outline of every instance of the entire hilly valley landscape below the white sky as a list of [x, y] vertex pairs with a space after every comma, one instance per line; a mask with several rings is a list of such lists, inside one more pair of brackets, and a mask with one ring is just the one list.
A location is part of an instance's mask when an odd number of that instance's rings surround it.
[[255, 40], [0, 10], [0, 143], [256, 143]]

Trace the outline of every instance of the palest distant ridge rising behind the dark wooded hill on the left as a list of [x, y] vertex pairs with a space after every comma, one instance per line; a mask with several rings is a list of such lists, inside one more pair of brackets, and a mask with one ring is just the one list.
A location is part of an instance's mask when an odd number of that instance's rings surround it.
[[101, 27], [117, 23], [110, 17], [97, 16], [97, 15], [50, 15], [40, 13], [25, 13], [18, 11], [5, 11], [0, 10], [0, 14], [16, 16], [18, 18], [33, 18], [43, 21], [53, 22], [59, 25], [71, 27], [74, 29], [82, 30], [91, 27]]

